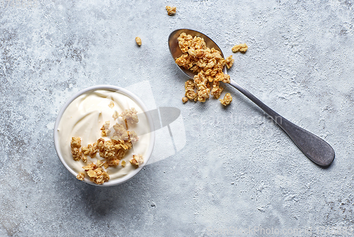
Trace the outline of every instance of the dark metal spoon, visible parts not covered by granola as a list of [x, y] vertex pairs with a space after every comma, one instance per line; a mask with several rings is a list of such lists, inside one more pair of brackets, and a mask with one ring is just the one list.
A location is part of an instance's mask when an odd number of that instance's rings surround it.
[[[194, 36], [202, 37], [207, 47], [209, 47], [210, 49], [214, 47], [215, 50], [219, 50], [222, 54], [222, 50], [220, 50], [217, 44], [214, 41], [212, 41], [210, 37], [207, 37], [207, 35], [204, 35], [195, 30], [179, 29], [173, 31], [169, 36], [169, 48], [174, 60], [176, 60], [176, 58], [180, 57], [183, 54], [178, 46], [178, 40], [177, 40], [178, 36], [181, 35], [181, 33], [183, 32], [186, 33], [187, 35], [192, 35], [193, 37]], [[222, 57], [224, 57], [224, 54], [222, 54]], [[193, 73], [193, 71], [184, 69], [183, 67], [179, 67], [179, 68], [183, 71], [183, 73], [185, 73], [185, 75], [187, 75], [191, 79], [193, 79], [193, 77], [195, 76], [195, 73]], [[224, 74], [227, 73], [226, 67], [224, 67], [223, 71]], [[234, 88], [239, 90], [247, 98], [252, 100], [253, 103], [258, 105], [259, 108], [261, 108], [264, 112], [266, 112], [284, 130], [284, 132], [286, 132], [286, 134], [290, 137], [290, 139], [292, 139], [292, 141], [295, 142], [295, 144], [299, 147], [299, 149], [311, 161], [313, 161], [319, 166], [329, 166], [332, 163], [335, 156], [334, 150], [326, 141], [317, 137], [311, 132], [302, 129], [299, 126], [294, 125], [292, 122], [286, 120], [284, 117], [280, 116], [277, 112], [270, 109], [261, 100], [258, 100], [256, 96], [253, 96], [251, 93], [249, 93], [249, 91], [242, 88], [234, 80], [230, 81], [230, 85], [234, 86]]]

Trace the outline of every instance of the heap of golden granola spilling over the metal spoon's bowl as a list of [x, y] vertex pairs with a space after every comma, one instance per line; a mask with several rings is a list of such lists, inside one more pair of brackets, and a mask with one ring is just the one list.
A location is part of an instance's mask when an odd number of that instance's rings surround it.
[[[208, 48], [204, 39], [185, 33], [179, 35], [178, 45], [183, 54], [176, 59], [176, 64], [198, 73], [193, 80], [185, 82], [185, 97], [200, 102], [205, 102], [210, 95], [218, 99], [224, 90], [220, 81], [230, 83], [230, 76], [224, 74], [222, 69], [225, 65], [232, 67], [232, 56], [224, 59], [221, 52]], [[186, 101], [183, 98], [183, 103]]]

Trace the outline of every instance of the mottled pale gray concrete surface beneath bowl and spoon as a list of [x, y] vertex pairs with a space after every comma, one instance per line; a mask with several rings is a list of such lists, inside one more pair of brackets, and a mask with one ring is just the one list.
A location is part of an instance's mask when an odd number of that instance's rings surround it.
[[[16, 2], [0, 2], [0, 236], [354, 235], [352, 1]], [[227, 56], [246, 42], [232, 79], [326, 139], [333, 164], [314, 165], [230, 86], [227, 108], [183, 105], [167, 45], [177, 28]], [[141, 81], [157, 107], [181, 110], [183, 149], [157, 139], [157, 161], [127, 183], [79, 182], [55, 152], [57, 112], [88, 86]]]

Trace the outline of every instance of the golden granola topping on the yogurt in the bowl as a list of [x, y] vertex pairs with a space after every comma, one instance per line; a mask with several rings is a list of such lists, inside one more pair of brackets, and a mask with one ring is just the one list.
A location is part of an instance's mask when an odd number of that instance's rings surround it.
[[[113, 114], [113, 118], [117, 119], [118, 116], [125, 120], [125, 125], [127, 122], [130, 124], [134, 122], [139, 122], [137, 118], [137, 110], [135, 108], [127, 109], [122, 112], [121, 115], [117, 111]], [[120, 123], [113, 125], [113, 134], [111, 134], [110, 139], [105, 140], [103, 138], [98, 139], [93, 144], [88, 144], [87, 146], [81, 146], [80, 137], [72, 137], [70, 146], [72, 148], [72, 157], [74, 161], [84, 161], [87, 162], [87, 156], [95, 158], [97, 153], [103, 160], [98, 159], [96, 163], [90, 163], [82, 168], [89, 176], [89, 179], [98, 185], [107, 182], [110, 177], [105, 171], [110, 166], [118, 166], [120, 161], [124, 158], [127, 150], [132, 149], [132, 143], [137, 142], [139, 137], [134, 131], [128, 131]], [[110, 135], [110, 122], [106, 121], [103, 123], [101, 128], [102, 137], [108, 137]], [[144, 163], [144, 158], [142, 155], [133, 155], [130, 160], [134, 166], [140, 166]], [[126, 165], [125, 161], [122, 161], [120, 165], [124, 168]], [[84, 180], [84, 172], [80, 172], [76, 178], [79, 180]]]

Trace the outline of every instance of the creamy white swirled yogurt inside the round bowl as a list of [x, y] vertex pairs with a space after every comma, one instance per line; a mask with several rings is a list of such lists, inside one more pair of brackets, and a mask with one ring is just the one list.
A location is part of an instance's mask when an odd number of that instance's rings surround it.
[[[114, 103], [113, 108], [108, 106], [111, 102]], [[142, 110], [134, 99], [124, 93], [120, 93], [120, 91], [110, 90], [96, 90], [84, 93], [73, 100], [64, 111], [58, 125], [57, 134], [60, 146], [59, 151], [65, 163], [67, 163], [74, 172], [79, 173], [84, 172], [82, 166], [86, 166], [89, 163], [96, 163], [98, 159], [105, 161], [105, 158], [101, 158], [98, 153], [93, 158], [86, 156], [86, 163], [84, 163], [84, 161], [74, 161], [70, 141], [72, 137], [81, 137], [81, 147], [93, 144], [102, 137], [101, 127], [105, 121], [110, 121], [110, 130], [112, 131], [110, 134], [113, 134], [113, 125], [115, 125], [115, 123], [125, 124], [120, 117], [114, 120], [112, 117], [113, 113], [115, 111], [121, 113], [123, 110], [130, 108], [137, 110], [139, 122], [133, 125], [128, 123], [127, 130], [135, 131], [139, 136], [139, 141], [132, 143], [132, 149], [125, 152], [125, 156], [121, 160], [125, 161], [125, 167], [118, 165], [106, 169], [108, 175], [110, 175], [108, 182], [122, 178], [136, 170], [137, 168], [130, 163], [130, 159], [133, 154], [142, 154], [144, 158], [147, 156], [151, 140], [149, 121], [147, 120], [144, 110]], [[110, 136], [102, 138], [108, 140]], [[146, 161], [144, 161], [144, 163], [145, 162]], [[89, 180], [87, 175], [85, 180]]]

